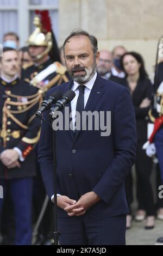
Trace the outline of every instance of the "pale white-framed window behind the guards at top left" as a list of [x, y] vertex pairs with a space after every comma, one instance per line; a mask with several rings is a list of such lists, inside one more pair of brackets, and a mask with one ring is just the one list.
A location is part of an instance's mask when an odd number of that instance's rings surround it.
[[34, 31], [35, 9], [49, 10], [53, 32], [58, 39], [58, 5], [59, 0], [0, 0], [0, 44], [4, 33], [16, 32], [20, 36], [20, 46], [26, 45], [28, 36]]

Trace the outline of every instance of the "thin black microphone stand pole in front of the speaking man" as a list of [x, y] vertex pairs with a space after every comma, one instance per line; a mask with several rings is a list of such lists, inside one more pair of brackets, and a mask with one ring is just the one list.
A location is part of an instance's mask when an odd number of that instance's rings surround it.
[[[51, 123], [55, 118], [51, 118]], [[55, 144], [55, 130], [53, 129], [53, 186], [54, 186], [54, 245], [58, 245], [59, 243], [59, 236], [61, 233], [58, 231], [58, 224], [57, 224], [57, 157], [56, 157], [56, 144]]]

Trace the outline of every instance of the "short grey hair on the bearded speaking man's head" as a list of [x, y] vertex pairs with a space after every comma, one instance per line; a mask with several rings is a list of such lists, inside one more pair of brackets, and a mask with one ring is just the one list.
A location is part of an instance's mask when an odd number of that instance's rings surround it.
[[70, 38], [72, 38], [73, 36], [80, 36], [80, 35], [85, 35], [90, 39], [93, 53], [96, 54], [98, 52], [98, 42], [97, 42], [96, 37], [94, 35], [90, 35], [88, 32], [86, 32], [83, 29], [74, 29], [74, 31], [72, 31], [71, 34], [67, 36], [66, 40], [64, 41], [64, 45], [63, 45], [64, 54], [65, 54], [65, 45], [67, 44], [68, 40]]

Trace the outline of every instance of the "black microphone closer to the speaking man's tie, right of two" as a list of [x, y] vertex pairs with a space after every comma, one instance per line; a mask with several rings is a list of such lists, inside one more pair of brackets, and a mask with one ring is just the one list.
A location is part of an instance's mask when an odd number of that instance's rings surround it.
[[65, 105], [73, 100], [73, 98], [76, 96], [76, 94], [73, 92], [73, 90], [69, 90], [64, 96], [62, 96], [61, 100], [58, 100], [55, 103], [55, 107], [51, 108], [52, 112], [49, 113], [51, 117], [53, 117], [53, 114], [55, 111], [60, 111], [65, 108]]

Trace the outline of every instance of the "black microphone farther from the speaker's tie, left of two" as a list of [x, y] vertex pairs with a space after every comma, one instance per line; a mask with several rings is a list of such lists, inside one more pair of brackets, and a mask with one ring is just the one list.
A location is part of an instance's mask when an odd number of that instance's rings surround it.
[[52, 105], [58, 101], [62, 97], [62, 94], [59, 90], [56, 90], [51, 96], [49, 96], [48, 100], [44, 100], [42, 102], [42, 106], [40, 109], [36, 112], [36, 117], [39, 117], [42, 119], [42, 113], [48, 110], [52, 107]]

